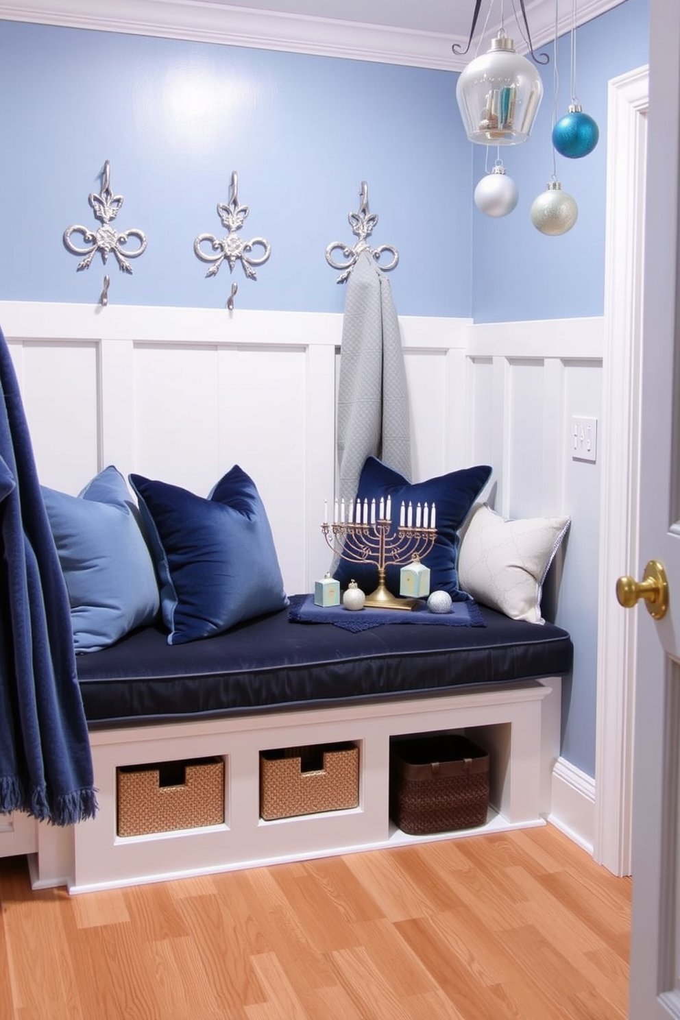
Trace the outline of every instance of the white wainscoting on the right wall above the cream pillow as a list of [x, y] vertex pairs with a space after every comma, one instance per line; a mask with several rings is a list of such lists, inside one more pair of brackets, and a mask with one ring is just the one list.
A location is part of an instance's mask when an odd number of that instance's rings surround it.
[[580, 500], [566, 492], [569, 422], [600, 413], [603, 337], [599, 318], [470, 330], [471, 460], [492, 465], [489, 502], [504, 516], [572, 513]]

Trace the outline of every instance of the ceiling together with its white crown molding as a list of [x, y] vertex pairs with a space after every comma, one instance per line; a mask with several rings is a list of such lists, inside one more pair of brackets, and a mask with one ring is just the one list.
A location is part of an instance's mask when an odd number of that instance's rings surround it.
[[[524, 0], [534, 47], [625, 0]], [[382, 63], [462, 70], [502, 22], [526, 51], [518, 22], [521, 0], [481, 0], [467, 55], [475, 0], [0, 0], [0, 20], [31, 21], [133, 35], [191, 39], [233, 46]], [[515, 13], [517, 11], [517, 14]]]

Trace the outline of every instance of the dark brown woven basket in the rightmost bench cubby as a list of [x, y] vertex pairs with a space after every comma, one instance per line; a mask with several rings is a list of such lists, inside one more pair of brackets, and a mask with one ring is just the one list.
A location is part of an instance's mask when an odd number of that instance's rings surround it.
[[488, 754], [451, 733], [394, 741], [389, 815], [410, 835], [475, 828], [488, 810]]

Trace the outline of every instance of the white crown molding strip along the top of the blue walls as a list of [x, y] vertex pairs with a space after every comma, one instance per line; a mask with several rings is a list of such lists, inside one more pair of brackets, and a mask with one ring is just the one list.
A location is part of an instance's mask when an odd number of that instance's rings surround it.
[[[583, 0], [578, 23], [623, 2]], [[104, 7], [105, 10], [101, 9]], [[534, 0], [527, 4], [527, 18], [536, 50], [555, 35], [553, 5], [545, 0]], [[114, 5], [95, 5], [92, 0], [14, 0], [14, 3], [0, 0], [0, 20], [187, 39], [438, 70], [462, 70], [471, 59], [469, 54], [461, 56], [452, 52], [453, 43], [465, 47], [467, 39], [463, 38], [336, 18], [252, 10], [210, 0], [117, 0]], [[559, 34], [570, 29], [571, 16], [562, 17]], [[512, 32], [509, 31], [509, 35]], [[518, 51], [526, 51], [521, 39], [515, 42]]]

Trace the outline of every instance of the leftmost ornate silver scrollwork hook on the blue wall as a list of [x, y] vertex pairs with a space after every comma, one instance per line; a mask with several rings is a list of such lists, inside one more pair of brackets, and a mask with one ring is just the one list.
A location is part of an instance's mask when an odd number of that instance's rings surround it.
[[[109, 255], [113, 254], [118, 263], [118, 268], [121, 272], [128, 272], [132, 274], [133, 267], [127, 261], [130, 258], [139, 258], [139, 256], [146, 250], [147, 247], [147, 237], [144, 231], [140, 231], [138, 227], [132, 227], [129, 231], [122, 231], [120, 234], [111, 226], [112, 220], [116, 218], [124, 198], [122, 195], [114, 195], [111, 191], [110, 186], [110, 174], [111, 174], [111, 164], [108, 159], [104, 163], [104, 169], [102, 171], [102, 190], [99, 195], [95, 195], [92, 192], [88, 195], [88, 201], [92, 206], [92, 211], [95, 214], [95, 218], [100, 221], [101, 226], [97, 227], [96, 231], [92, 231], [87, 226], [81, 226], [76, 224], [74, 226], [67, 226], [64, 231], [64, 246], [73, 255], [84, 255], [85, 258], [81, 259], [76, 266], [76, 271], [81, 269], [89, 269], [92, 260], [99, 252], [102, 256], [102, 262], [106, 265]], [[71, 241], [73, 234], [81, 234], [83, 236], [83, 241], [87, 245], [86, 248], [79, 248]], [[128, 251], [125, 249], [123, 254], [122, 246], [126, 245], [130, 238], [136, 238], [139, 242], [139, 248]], [[125, 255], [127, 258], [125, 258]], [[109, 276], [104, 276], [104, 289], [100, 297], [100, 303], [102, 305], [108, 304], [108, 291], [111, 280]]]

